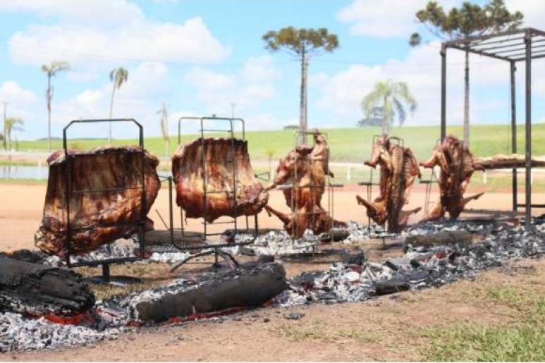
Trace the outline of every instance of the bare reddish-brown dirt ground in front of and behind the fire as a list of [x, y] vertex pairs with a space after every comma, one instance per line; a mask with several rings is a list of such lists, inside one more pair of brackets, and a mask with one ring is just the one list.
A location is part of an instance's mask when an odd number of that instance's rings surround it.
[[[0, 250], [34, 249], [34, 233], [42, 217], [45, 184], [0, 184]], [[468, 190], [467, 195], [480, 190]], [[366, 196], [364, 187], [336, 188], [332, 192], [333, 216], [340, 221], [367, 223], [363, 207], [355, 195]], [[424, 206], [424, 188], [416, 186], [407, 207]], [[431, 201], [436, 200], [431, 196]], [[519, 200], [523, 200], [520, 196]], [[545, 195], [534, 195], [532, 202], [543, 203]], [[271, 192], [272, 207], [287, 211], [280, 192]], [[511, 195], [486, 193], [469, 207], [475, 209], [510, 209]], [[176, 209], [175, 209], [176, 211]], [[175, 212], [176, 214], [177, 212]], [[158, 229], [159, 218], [168, 220], [169, 194], [161, 189], [150, 211]], [[418, 219], [419, 216], [415, 216]], [[179, 214], [175, 216], [178, 221]], [[196, 224], [190, 221], [188, 228]], [[175, 227], [179, 222], [175, 223]], [[259, 215], [260, 228], [281, 228], [275, 217]], [[197, 227], [195, 227], [197, 228]], [[223, 227], [224, 228], [224, 227]], [[331, 247], [336, 247], [333, 243]], [[338, 246], [343, 247], [343, 246]], [[362, 247], [367, 257], [380, 260], [400, 255], [399, 249], [379, 249], [368, 242]], [[325, 269], [335, 257], [322, 261], [283, 261], [288, 276], [300, 271]], [[542, 276], [545, 262], [518, 262], [532, 266], [536, 273], [486, 271], [477, 282], [458, 281], [439, 289], [399, 293], [376, 300], [352, 304], [312, 304], [290, 308], [262, 308], [238, 313], [221, 323], [194, 321], [174, 326], [141, 328], [121, 333], [117, 340], [99, 342], [85, 347], [60, 350], [8, 352], [0, 354], [3, 361], [371, 361], [423, 360], [419, 353], [425, 340], [415, 329], [452, 321], [505, 321], [506, 316], [494, 307], [475, 304], [468, 292], [482, 283], [524, 283]], [[183, 269], [191, 269], [188, 264]], [[183, 269], [180, 272], [183, 272]], [[526, 271], [526, 270], [524, 270]], [[286, 319], [286, 314], [305, 314], [300, 320]]]

